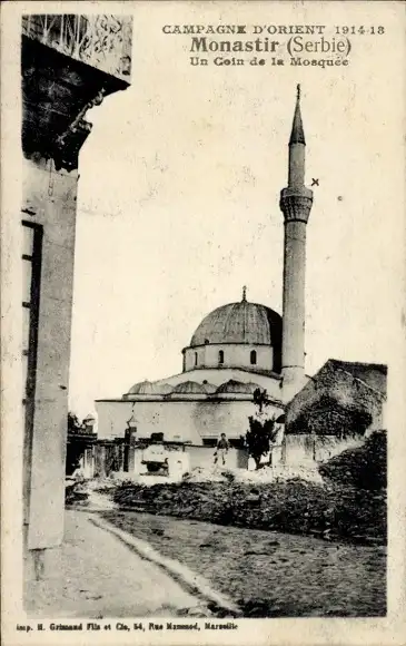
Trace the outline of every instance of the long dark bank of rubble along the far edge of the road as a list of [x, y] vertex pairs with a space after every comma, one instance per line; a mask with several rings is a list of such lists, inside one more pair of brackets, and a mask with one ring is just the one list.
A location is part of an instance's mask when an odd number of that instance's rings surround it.
[[121, 509], [206, 520], [218, 525], [310, 535], [325, 540], [384, 545], [386, 491], [319, 484], [299, 478], [141, 484], [125, 482], [113, 495]]

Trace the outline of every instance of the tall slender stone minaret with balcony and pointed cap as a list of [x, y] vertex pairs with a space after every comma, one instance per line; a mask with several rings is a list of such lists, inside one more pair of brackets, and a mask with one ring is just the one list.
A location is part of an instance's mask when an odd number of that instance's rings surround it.
[[289, 139], [288, 186], [280, 193], [285, 218], [281, 375], [288, 402], [305, 384], [306, 225], [313, 190], [305, 187], [306, 141], [300, 114], [300, 86]]

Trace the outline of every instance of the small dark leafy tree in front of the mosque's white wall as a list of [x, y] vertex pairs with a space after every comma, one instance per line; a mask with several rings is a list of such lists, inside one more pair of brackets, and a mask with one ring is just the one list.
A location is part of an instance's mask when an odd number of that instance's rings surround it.
[[249, 430], [244, 438], [245, 446], [249, 456], [255, 461], [255, 468], [260, 469], [260, 459], [269, 453], [271, 446], [275, 443], [278, 429], [276, 428], [275, 417], [267, 414], [267, 407], [270, 404], [267, 391], [259, 388], [254, 391], [254, 403], [257, 407], [257, 413], [248, 418]]

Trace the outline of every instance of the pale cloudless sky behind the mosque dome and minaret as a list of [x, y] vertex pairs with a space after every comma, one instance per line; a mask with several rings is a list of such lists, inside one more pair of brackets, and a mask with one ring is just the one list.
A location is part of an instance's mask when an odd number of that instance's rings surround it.
[[[350, 4], [355, 23], [372, 18]], [[350, 63], [327, 69], [271, 66], [269, 55], [263, 67], [217, 67], [212, 55], [194, 67], [190, 36], [162, 33], [167, 23], [227, 22], [321, 23], [331, 35], [338, 14], [333, 22], [326, 3], [135, 8], [131, 86], [89, 110], [80, 153], [70, 374], [80, 417], [95, 399], [181, 372], [199, 322], [239, 301], [242, 285], [248, 301], [281, 313], [278, 204], [297, 82], [306, 182], [319, 183], [307, 226], [306, 371], [328, 358], [389, 362], [404, 232], [404, 41], [390, 11], [380, 17], [374, 4], [386, 33], [355, 36]]]

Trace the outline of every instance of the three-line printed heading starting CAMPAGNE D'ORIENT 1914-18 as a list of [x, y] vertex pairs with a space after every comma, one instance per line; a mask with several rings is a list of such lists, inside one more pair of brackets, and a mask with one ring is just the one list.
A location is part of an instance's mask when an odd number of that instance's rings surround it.
[[[162, 32], [191, 37], [187, 49], [191, 66], [212, 62], [218, 67], [249, 63], [327, 68], [349, 65], [353, 37], [382, 36], [385, 28], [379, 25], [335, 25], [330, 28], [325, 25], [165, 25]], [[252, 39], [239, 39], [240, 35]], [[224, 36], [237, 38], [218, 38]], [[241, 53], [251, 56], [242, 58]], [[284, 56], [286, 53], [289, 59]]]

